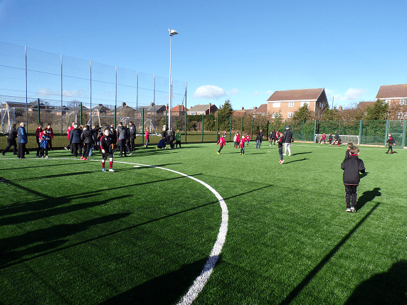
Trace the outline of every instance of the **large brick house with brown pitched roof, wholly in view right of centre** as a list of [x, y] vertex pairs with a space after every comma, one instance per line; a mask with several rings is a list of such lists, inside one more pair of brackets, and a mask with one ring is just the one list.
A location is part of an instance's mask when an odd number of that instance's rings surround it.
[[329, 108], [324, 88], [275, 91], [267, 102], [268, 117], [272, 119], [278, 113], [282, 119], [290, 119], [305, 104], [317, 114]]

